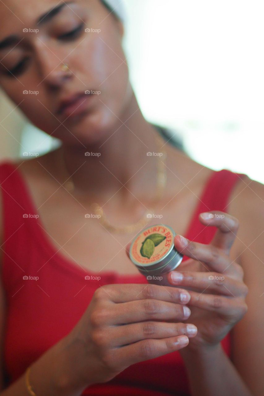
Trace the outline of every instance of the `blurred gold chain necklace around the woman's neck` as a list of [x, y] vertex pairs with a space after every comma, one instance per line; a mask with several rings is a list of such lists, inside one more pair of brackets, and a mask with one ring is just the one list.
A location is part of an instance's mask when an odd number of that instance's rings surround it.
[[[159, 200], [161, 200], [161, 198], [163, 197], [163, 193], [164, 193], [164, 190], [166, 187], [166, 181], [167, 181], [166, 166], [165, 166], [166, 150], [164, 148], [164, 145], [165, 145], [164, 140], [159, 134], [155, 135], [155, 140], [156, 140], [157, 147], [158, 147], [156, 154], [161, 153], [162, 155], [157, 155], [156, 193], [155, 193], [155, 198], [153, 199], [153, 205], [156, 205], [159, 202]], [[63, 158], [63, 162], [64, 162], [64, 168], [67, 171], [67, 166], [66, 166], [66, 163], [64, 160], [63, 153], [62, 153], [62, 158]], [[74, 193], [75, 192], [75, 184], [73, 182], [72, 177], [69, 175], [68, 171], [67, 171], [67, 173], [68, 173], [68, 179], [65, 183], [63, 183], [63, 187], [65, 187], [65, 189], [67, 191]], [[149, 223], [151, 221], [152, 215], [154, 214], [154, 209], [149, 208], [149, 209], [147, 209], [147, 211], [145, 211], [143, 217], [136, 223], [129, 224], [124, 227], [116, 227], [109, 223], [109, 221], [107, 220], [107, 218], [105, 216], [103, 208], [101, 208], [101, 206], [99, 206], [97, 203], [94, 202], [93, 204], [91, 204], [91, 208], [93, 209], [94, 214], [98, 216], [97, 218], [98, 218], [99, 222], [101, 223], [101, 225], [103, 225], [103, 227], [105, 227], [109, 232], [116, 232], [118, 234], [130, 234], [132, 232], [135, 232], [135, 231], [141, 229], [142, 227], [146, 226], [147, 223]]]

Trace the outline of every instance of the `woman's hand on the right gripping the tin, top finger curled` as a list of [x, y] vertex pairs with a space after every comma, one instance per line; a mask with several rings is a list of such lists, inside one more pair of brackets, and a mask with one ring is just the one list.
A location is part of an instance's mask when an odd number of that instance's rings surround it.
[[[191, 295], [187, 304], [191, 309], [188, 321], [198, 329], [196, 337], [190, 338], [186, 347], [192, 350], [220, 343], [247, 312], [248, 287], [243, 282], [243, 269], [230, 259], [239, 222], [228, 213], [211, 211], [208, 214], [205, 219], [200, 213], [199, 220], [218, 228], [212, 242], [205, 245], [187, 240], [185, 246], [177, 235], [174, 239], [176, 249], [190, 259], [167, 274], [172, 286], [187, 289]], [[173, 280], [176, 274], [182, 275], [182, 280]]]

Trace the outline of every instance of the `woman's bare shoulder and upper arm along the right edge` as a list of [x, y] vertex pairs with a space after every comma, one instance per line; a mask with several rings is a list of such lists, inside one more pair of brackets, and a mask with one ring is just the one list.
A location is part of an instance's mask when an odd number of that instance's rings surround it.
[[[236, 262], [244, 271], [243, 282], [249, 288], [248, 311], [233, 327], [232, 362], [255, 395], [264, 389], [264, 185], [244, 176], [230, 197], [229, 211], [239, 220]], [[245, 358], [245, 356], [247, 358]]]

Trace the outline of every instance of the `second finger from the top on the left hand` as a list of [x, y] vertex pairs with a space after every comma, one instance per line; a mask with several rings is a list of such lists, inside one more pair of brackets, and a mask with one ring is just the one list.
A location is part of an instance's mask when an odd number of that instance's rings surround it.
[[189, 308], [185, 305], [145, 299], [107, 307], [101, 319], [104, 325], [128, 324], [155, 319], [181, 321], [189, 318], [190, 313]]

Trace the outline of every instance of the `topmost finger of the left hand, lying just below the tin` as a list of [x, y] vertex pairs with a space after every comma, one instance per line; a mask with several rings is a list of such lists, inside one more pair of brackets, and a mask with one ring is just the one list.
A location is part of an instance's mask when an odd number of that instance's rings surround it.
[[175, 289], [170, 286], [153, 284], [113, 284], [100, 287], [97, 290], [98, 297], [111, 299], [114, 303], [126, 303], [142, 299], [155, 299], [171, 303], [187, 304], [191, 298], [189, 292], [184, 289]]

